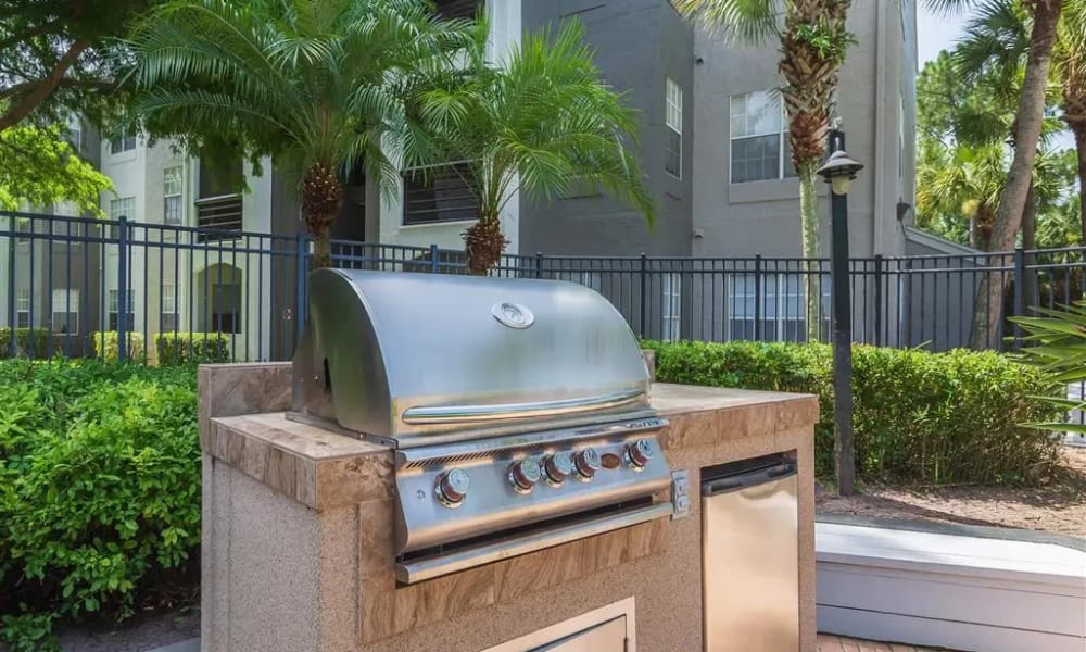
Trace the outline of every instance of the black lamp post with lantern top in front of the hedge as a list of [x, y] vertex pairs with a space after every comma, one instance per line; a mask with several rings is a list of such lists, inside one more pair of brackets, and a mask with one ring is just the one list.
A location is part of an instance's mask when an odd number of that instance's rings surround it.
[[[838, 133], [839, 134], [839, 133]], [[835, 135], [836, 136], [836, 135]], [[851, 496], [856, 479], [856, 452], [853, 448], [853, 315], [848, 284], [848, 189], [863, 165], [845, 153], [844, 134], [831, 138], [834, 151], [818, 175], [830, 184], [833, 284], [833, 443], [837, 493]]]

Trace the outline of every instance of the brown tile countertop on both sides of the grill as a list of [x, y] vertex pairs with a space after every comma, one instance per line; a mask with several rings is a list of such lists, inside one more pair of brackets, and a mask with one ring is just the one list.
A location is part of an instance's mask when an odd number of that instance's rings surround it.
[[[774, 437], [818, 419], [815, 397], [718, 387], [654, 384], [652, 405], [671, 421], [661, 432], [670, 452], [719, 446], [754, 432]], [[282, 412], [211, 419], [205, 453], [315, 509], [388, 497], [388, 447], [286, 418]]]

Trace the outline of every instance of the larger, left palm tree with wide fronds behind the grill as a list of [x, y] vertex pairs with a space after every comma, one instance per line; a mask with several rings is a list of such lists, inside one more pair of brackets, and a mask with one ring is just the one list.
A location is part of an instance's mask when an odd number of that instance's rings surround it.
[[191, 150], [226, 140], [300, 173], [314, 264], [329, 266], [340, 179], [361, 164], [394, 192], [382, 145], [406, 128], [403, 99], [473, 38], [426, 0], [167, 0], [129, 37], [135, 111]]

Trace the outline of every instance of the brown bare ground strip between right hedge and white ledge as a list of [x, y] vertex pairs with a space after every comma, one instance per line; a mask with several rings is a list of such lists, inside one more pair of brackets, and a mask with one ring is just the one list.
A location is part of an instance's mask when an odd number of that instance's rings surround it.
[[821, 493], [818, 511], [877, 518], [1044, 530], [1086, 538], [1086, 449], [1065, 448], [1060, 471], [1041, 487], [886, 487], [862, 494]]

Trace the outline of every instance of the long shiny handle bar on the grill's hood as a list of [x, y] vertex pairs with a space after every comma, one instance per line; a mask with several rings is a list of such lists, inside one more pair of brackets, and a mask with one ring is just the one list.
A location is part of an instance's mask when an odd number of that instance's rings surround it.
[[529, 403], [492, 403], [479, 405], [419, 405], [404, 410], [406, 424], [460, 424], [493, 422], [514, 418], [563, 416], [620, 408], [634, 403], [645, 396], [644, 390], [632, 389], [594, 397], [533, 401]]

